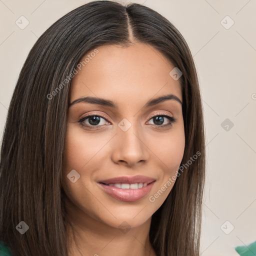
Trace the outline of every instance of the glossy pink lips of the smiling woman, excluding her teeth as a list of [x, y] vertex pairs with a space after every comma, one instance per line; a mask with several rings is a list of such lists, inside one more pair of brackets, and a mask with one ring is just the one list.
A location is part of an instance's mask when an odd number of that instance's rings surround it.
[[[114, 177], [104, 180], [99, 180], [98, 184], [100, 187], [110, 196], [121, 201], [137, 201], [143, 198], [151, 190], [155, 179], [147, 176], [121, 176]], [[131, 188], [118, 188], [112, 186], [112, 184], [134, 184], [143, 183], [144, 186], [141, 188], [131, 189]], [[145, 184], [147, 183], [147, 184]], [[107, 185], [111, 184], [111, 186]]]

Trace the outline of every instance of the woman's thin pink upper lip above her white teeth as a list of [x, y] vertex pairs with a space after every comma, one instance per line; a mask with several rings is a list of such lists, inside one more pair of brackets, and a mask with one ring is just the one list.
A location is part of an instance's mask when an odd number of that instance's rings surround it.
[[104, 183], [104, 184], [114, 184], [114, 183], [125, 183], [125, 184], [147, 183], [147, 184], [149, 184], [152, 181], [155, 181], [155, 178], [147, 177], [147, 176], [142, 176], [142, 175], [136, 175], [136, 176], [120, 176], [120, 177], [102, 179], [102, 180], [99, 180], [98, 183]]

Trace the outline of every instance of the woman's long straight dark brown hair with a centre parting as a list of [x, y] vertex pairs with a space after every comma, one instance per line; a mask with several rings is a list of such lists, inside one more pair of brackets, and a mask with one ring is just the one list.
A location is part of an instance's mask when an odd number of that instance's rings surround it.
[[[70, 89], [70, 79], [65, 79], [89, 50], [128, 45], [128, 27], [135, 40], [159, 50], [183, 73], [181, 165], [186, 168], [152, 215], [150, 242], [159, 256], [199, 255], [205, 145], [198, 79], [188, 45], [166, 18], [146, 6], [92, 1], [58, 19], [39, 37], [11, 98], [0, 155], [0, 240], [15, 256], [67, 256], [60, 182]], [[52, 93], [57, 87], [61, 89]], [[196, 152], [200, 156], [187, 164]], [[15, 228], [20, 221], [29, 226], [24, 234]]]

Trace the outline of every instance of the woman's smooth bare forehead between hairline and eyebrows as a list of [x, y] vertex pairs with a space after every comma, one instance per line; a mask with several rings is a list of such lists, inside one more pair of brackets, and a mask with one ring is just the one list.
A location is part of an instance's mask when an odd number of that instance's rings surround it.
[[182, 101], [181, 86], [169, 72], [172, 63], [151, 45], [134, 43], [128, 47], [102, 45], [87, 52], [86, 62], [72, 79], [70, 101], [81, 96], [97, 96], [118, 104], [145, 102], [172, 93]]

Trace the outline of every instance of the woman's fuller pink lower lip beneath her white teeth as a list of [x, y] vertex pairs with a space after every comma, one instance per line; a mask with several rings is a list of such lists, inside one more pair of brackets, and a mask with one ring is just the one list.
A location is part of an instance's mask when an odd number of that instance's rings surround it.
[[154, 184], [154, 181], [147, 184], [144, 187], [137, 188], [137, 189], [130, 189], [130, 188], [125, 189], [125, 188], [118, 188], [115, 186], [104, 185], [102, 183], [98, 183], [98, 184], [103, 188], [103, 190], [107, 194], [114, 197], [115, 199], [118, 199], [120, 201], [131, 202], [131, 201], [137, 201], [143, 198], [146, 194], [148, 194]]

